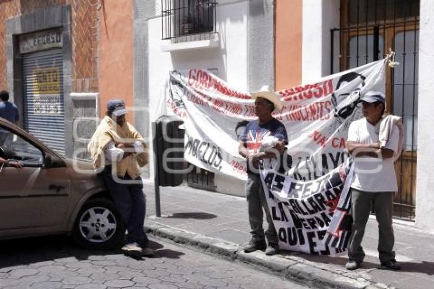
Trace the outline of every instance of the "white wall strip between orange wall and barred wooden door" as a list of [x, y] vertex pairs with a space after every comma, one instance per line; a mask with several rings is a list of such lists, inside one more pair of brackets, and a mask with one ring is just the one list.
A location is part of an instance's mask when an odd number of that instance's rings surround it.
[[303, 1], [303, 83], [317, 81], [330, 74], [330, 29], [339, 28], [339, 8], [339, 0]]

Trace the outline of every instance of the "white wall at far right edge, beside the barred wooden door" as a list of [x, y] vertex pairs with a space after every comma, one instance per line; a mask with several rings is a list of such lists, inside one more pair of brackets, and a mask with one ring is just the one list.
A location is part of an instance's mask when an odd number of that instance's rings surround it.
[[434, 232], [434, 118], [432, 67], [434, 67], [434, 1], [421, 0], [419, 25], [418, 152], [416, 179], [416, 226]]

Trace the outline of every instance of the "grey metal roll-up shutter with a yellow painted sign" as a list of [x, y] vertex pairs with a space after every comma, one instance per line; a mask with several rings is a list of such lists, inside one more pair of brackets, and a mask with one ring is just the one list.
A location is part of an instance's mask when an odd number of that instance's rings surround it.
[[24, 128], [65, 154], [63, 53], [52, 49], [22, 55]]

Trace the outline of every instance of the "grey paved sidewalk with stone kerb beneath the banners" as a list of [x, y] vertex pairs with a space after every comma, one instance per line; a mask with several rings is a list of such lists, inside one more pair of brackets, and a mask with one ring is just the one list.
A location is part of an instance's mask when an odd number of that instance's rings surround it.
[[[395, 250], [401, 271], [380, 270], [377, 254], [377, 223], [371, 218], [363, 240], [367, 256], [362, 267], [347, 271], [346, 255], [337, 258], [283, 251], [275, 256], [263, 252], [246, 254], [250, 240], [246, 200], [241, 197], [186, 186], [161, 187], [161, 213], [156, 219], [154, 186], [145, 182], [147, 219], [153, 234], [199, 247], [224, 257], [254, 264], [285, 278], [312, 287], [434, 287], [434, 235], [395, 222]], [[165, 215], [165, 216], [164, 216]]]

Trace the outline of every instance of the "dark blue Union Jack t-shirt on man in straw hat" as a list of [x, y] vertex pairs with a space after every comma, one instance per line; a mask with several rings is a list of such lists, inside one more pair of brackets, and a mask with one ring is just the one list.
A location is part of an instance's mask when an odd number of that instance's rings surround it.
[[[246, 143], [246, 148], [249, 153], [259, 153], [262, 140], [266, 136], [274, 136], [278, 138], [279, 141], [288, 143], [288, 135], [285, 126], [276, 118], [272, 118], [271, 121], [266, 124], [259, 124], [257, 119], [251, 121], [247, 124], [246, 129], [241, 136], [241, 141]], [[280, 163], [282, 163], [282, 160], [283, 154]], [[249, 165], [247, 165], [247, 172], [252, 172]]]

